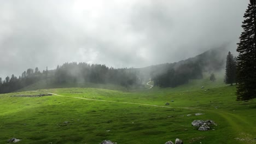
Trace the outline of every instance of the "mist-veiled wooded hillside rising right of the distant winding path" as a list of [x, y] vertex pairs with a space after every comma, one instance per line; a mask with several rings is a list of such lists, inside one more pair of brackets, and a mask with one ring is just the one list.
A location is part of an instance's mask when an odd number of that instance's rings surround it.
[[224, 68], [225, 51], [223, 46], [177, 63], [155, 65], [150, 76], [154, 85], [160, 87], [176, 87], [190, 79], [202, 79], [203, 72], [219, 71]]

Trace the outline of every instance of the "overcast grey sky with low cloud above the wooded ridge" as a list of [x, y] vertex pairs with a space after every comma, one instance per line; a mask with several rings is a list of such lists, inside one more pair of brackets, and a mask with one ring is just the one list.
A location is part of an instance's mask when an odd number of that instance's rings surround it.
[[236, 51], [244, 0], [0, 0], [0, 77], [65, 62], [140, 68]]

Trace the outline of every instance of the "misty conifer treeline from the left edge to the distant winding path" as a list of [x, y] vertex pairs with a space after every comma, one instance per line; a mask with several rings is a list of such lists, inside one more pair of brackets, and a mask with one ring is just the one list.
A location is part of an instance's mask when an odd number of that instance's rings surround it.
[[0, 77], [0, 93], [17, 91], [40, 80], [47, 80], [50, 83], [112, 83], [121, 85], [127, 89], [140, 87], [141, 80], [137, 71], [133, 68], [108, 68], [101, 64], [88, 63], [65, 63], [57, 66], [55, 70], [43, 70], [41, 73], [38, 68], [27, 69], [21, 76], [7, 76], [4, 80]]

